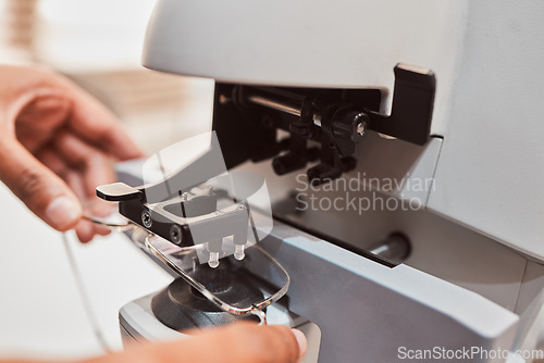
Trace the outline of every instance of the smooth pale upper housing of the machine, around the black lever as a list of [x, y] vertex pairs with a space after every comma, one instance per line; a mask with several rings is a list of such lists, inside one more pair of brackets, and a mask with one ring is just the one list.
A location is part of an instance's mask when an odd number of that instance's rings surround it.
[[143, 63], [329, 88], [391, 88], [399, 62], [433, 70], [444, 145], [429, 208], [544, 260], [543, 12], [539, 1], [159, 1]]

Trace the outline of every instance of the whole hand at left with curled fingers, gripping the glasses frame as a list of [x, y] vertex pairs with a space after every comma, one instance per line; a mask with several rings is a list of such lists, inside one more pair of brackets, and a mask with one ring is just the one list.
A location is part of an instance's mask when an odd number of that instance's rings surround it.
[[82, 242], [108, 230], [82, 220], [82, 203], [114, 182], [111, 160], [141, 157], [115, 116], [69, 79], [0, 66], [0, 179], [51, 227]]

